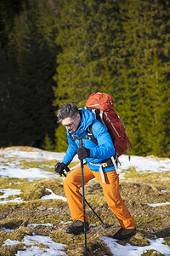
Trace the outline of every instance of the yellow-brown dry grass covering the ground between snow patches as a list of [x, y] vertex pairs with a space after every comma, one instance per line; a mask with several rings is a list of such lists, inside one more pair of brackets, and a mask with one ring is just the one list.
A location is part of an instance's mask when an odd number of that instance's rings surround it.
[[[34, 148], [17, 147], [20, 150], [33, 151]], [[5, 148], [4, 150], [9, 150]], [[35, 149], [36, 150], [36, 149]], [[38, 166], [48, 169], [54, 166], [54, 160], [46, 162], [35, 162], [26, 160], [20, 161], [20, 166]], [[51, 172], [54, 172], [51, 169]], [[161, 177], [160, 177], [161, 176]], [[166, 202], [170, 198], [170, 173], [137, 173], [134, 168], [128, 170], [125, 180], [120, 183], [120, 190], [123, 201], [125, 201], [129, 211], [137, 224], [137, 234], [122, 244], [127, 242], [136, 246], [146, 246], [151, 235], [163, 237], [167, 245], [170, 241], [170, 217], [169, 206], [149, 207], [148, 203]], [[61, 180], [56, 178], [44, 178], [30, 183], [26, 179], [0, 177], [0, 189], [21, 189], [20, 197], [26, 201], [20, 204], [0, 204], [0, 245], [7, 239], [22, 241], [24, 236], [37, 234], [50, 236], [54, 241], [66, 244], [65, 253], [67, 255], [83, 255], [84, 236], [72, 236], [65, 233], [66, 222], [71, 221], [68, 205], [65, 201], [46, 200], [42, 201], [42, 195], [47, 194], [46, 188], [52, 189], [57, 195], [64, 195]], [[166, 190], [167, 192], [162, 192]], [[110, 228], [104, 229], [99, 219], [87, 207], [90, 230], [87, 234], [88, 255], [101, 256], [112, 255], [110, 249], [102, 241], [101, 236], [113, 236], [119, 229], [119, 224], [103, 196], [99, 183], [91, 181], [85, 187], [86, 199], [95, 212], [107, 223]], [[64, 223], [62, 223], [64, 222]], [[28, 226], [28, 224], [53, 224], [52, 226]], [[10, 229], [7, 232], [1, 228]], [[39, 245], [42, 246], [42, 245]], [[23, 245], [0, 247], [0, 255], [12, 256], [21, 249]], [[143, 255], [153, 254], [153, 251], [143, 253]]]

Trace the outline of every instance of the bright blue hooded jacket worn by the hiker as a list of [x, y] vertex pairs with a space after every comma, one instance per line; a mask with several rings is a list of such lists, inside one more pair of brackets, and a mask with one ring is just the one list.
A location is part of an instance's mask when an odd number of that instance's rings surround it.
[[[77, 136], [77, 137], [88, 138], [88, 133], [86, 129], [88, 128], [89, 125], [91, 125], [94, 122], [92, 126], [92, 131], [93, 131], [94, 137], [98, 141], [98, 145], [93, 143], [89, 139], [82, 139], [82, 145], [85, 148], [90, 149], [90, 157], [84, 159], [86, 160], [88, 167], [95, 172], [99, 172], [99, 166], [93, 166], [90, 164], [90, 162], [101, 164], [103, 160], [111, 158], [111, 156], [115, 154], [115, 148], [112, 143], [110, 134], [105, 130], [105, 126], [95, 119], [94, 113], [83, 108], [81, 109], [81, 111], [82, 111], [81, 124], [77, 129], [77, 131], [74, 132], [73, 134], [75, 137]], [[73, 142], [69, 134], [69, 131], [66, 131], [66, 133], [67, 133], [69, 146], [67, 148], [67, 151], [65, 153], [65, 157], [63, 160], [65, 164], [67, 164], [68, 162], [71, 162], [71, 160], [77, 154], [77, 148], [79, 148], [79, 140], [76, 139]], [[103, 168], [103, 172], [110, 172], [112, 170], [115, 170], [114, 166], [110, 168]]]

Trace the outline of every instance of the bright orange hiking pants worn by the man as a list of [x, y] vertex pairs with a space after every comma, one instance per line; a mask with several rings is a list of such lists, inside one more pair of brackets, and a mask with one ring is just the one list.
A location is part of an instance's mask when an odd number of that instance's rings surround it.
[[[116, 218], [124, 229], [134, 229], [134, 220], [127, 210], [122, 197], [119, 193], [119, 175], [116, 171], [105, 172], [105, 183], [102, 183], [99, 172], [92, 171], [87, 164], [83, 165], [84, 184], [89, 180], [96, 177], [99, 184], [103, 188], [105, 195], [105, 201], [114, 212]], [[81, 220], [83, 222], [83, 206], [82, 195], [79, 190], [82, 187], [82, 170], [81, 166], [71, 171], [64, 180], [65, 195], [68, 201], [68, 205], [71, 211], [71, 217], [73, 220]], [[86, 214], [86, 221], [88, 217]]]

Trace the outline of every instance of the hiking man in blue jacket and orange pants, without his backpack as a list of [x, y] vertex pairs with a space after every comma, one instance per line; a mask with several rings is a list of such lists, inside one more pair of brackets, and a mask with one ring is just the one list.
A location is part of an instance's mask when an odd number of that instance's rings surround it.
[[[72, 103], [62, 105], [57, 116], [61, 125], [66, 128], [69, 146], [63, 161], [55, 166], [55, 172], [60, 175], [64, 173], [64, 170], [68, 172], [67, 166], [76, 154], [79, 160], [85, 160], [86, 163], [83, 165], [84, 184], [94, 177], [97, 178], [103, 188], [105, 201], [122, 226], [113, 237], [126, 239], [132, 236], [136, 232], [135, 224], [119, 193], [119, 177], [112, 161], [116, 152], [110, 134], [105, 130], [104, 125], [95, 119], [94, 113], [83, 108], [78, 109]], [[92, 125], [92, 131], [98, 144], [88, 139], [87, 128], [89, 125]], [[82, 138], [82, 148], [79, 146], [80, 137]], [[84, 230], [82, 195], [79, 193], [82, 186], [81, 167], [71, 171], [65, 177], [63, 185], [73, 218], [73, 223], [66, 229], [66, 232], [80, 234]], [[89, 230], [87, 214], [86, 230]]]

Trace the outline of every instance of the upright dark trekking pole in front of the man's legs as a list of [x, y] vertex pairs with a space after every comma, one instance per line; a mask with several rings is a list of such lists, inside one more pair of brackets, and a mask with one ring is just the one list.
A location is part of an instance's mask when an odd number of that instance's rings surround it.
[[[80, 143], [80, 148], [82, 148], [82, 139], [79, 140], [79, 143]], [[82, 206], [83, 206], [83, 218], [84, 218], [85, 256], [88, 256], [87, 237], [86, 237], [86, 212], [85, 212], [85, 195], [84, 195], [83, 160], [81, 160], [81, 169], [82, 169]]]

